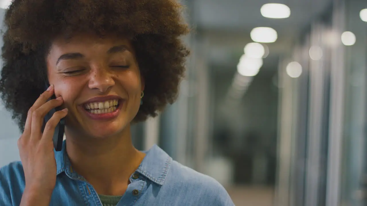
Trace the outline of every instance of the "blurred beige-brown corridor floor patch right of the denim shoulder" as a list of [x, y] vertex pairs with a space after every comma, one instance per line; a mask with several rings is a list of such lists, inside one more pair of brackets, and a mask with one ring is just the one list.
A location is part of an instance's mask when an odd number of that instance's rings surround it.
[[226, 189], [236, 206], [273, 205], [273, 187], [236, 186]]

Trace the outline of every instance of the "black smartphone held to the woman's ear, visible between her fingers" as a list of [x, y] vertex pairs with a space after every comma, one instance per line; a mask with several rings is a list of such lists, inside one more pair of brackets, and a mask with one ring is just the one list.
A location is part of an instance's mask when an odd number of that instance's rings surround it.
[[[50, 84], [48, 84], [46, 82], [45, 85], [46, 89], [48, 87], [50, 87]], [[45, 89], [45, 90], [46, 90]], [[47, 101], [50, 101], [51, 99], [56, 99], [55, 95], [52, 95], [50, 99], [48, 99]], [[56, 107], [56, 108], [52, 108], [44, 117], [43, 119], [43, 127], [42, 127], [42, 132], [46, 126], [46, 123], [48, 122], [48, 120], [51, 119], [52, 115], [54, 115], [54, 113], [56, 111], [60, 111], [62, 110], [61, 107]], [[54, 148], [56, 151], [61, 151], [62, 149], [62, 141], [64, 139], [64, 131], [65, 131], [65, 118], [62, 118], [60, 120], [60, 122], [57, 124], [56, 128], [55, 128], [55, 133], [54, 133], [54, 137], [52, 138], [52, 140], [54, 141]]]

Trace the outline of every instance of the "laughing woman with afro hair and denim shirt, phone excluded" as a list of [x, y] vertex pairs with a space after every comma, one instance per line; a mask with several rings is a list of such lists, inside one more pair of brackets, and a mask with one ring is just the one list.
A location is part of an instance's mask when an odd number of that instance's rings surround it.
[[[131, 143], [130, 125], [177, 96], [188, 55], [181, 8], [173, 0], [13, 1], [0, 92], [23, 131], [22, 162], [0, 170], [1, 206], [233, 205], [214, 179]], [[66, 140], [55, 152], [64, 117]]]

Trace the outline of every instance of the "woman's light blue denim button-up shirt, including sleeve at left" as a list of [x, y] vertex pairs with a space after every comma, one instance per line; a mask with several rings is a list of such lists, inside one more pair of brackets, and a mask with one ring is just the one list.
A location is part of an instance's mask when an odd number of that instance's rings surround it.
[[[65, 142], [55, 152], [56, 186], [50, 205], [102, 206], [93, 186], [77, 174], [66, 154]], [[146, 151], [139, 168], [117, 206], [233, 206], [228, 193], [216, 180], [173, 161], [158, 146]], [[21, 162], [0, 169], [0, 205], [18, 206], [25, 188]]]

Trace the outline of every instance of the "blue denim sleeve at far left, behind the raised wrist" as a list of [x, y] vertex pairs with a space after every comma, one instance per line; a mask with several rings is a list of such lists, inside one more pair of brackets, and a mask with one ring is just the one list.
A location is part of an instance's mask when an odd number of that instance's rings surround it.
[[0, 168], [0, 205], [19, 204], [25, 187], [21, 162], [12, 162]]

